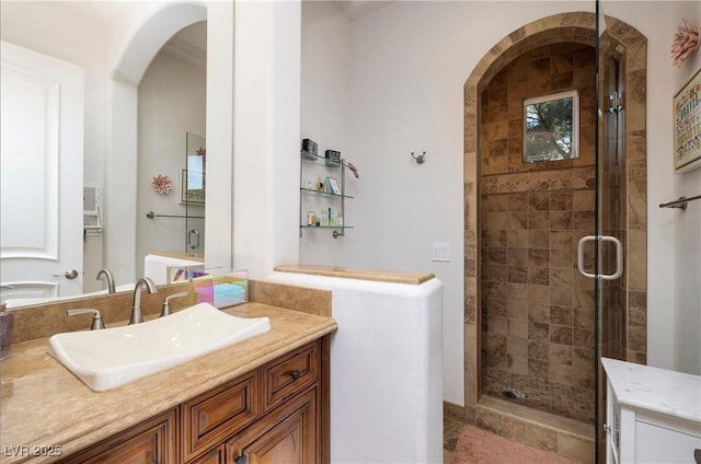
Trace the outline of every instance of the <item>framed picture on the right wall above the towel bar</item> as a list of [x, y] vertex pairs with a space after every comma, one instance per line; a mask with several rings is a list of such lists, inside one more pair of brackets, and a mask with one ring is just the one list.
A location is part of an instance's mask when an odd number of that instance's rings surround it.
[[701, 69], [675, 95], [675, 174], [701, 167]]

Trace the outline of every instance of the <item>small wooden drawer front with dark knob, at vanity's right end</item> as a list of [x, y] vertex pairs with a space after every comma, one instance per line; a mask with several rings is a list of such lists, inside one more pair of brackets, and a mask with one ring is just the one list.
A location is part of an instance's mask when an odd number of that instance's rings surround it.
[[319, 379], [319, 347], [304, 345], [290, 353], [265, 364], [263, 376], [263, 411], [267, 411], [297, 393], [317, 383]]

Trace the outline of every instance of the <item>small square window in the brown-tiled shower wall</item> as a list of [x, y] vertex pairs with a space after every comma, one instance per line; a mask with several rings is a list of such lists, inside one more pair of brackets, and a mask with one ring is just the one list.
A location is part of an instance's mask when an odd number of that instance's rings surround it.
[[579, 158], [579, 95], [561, 92], [524, 101], [524, 162]]

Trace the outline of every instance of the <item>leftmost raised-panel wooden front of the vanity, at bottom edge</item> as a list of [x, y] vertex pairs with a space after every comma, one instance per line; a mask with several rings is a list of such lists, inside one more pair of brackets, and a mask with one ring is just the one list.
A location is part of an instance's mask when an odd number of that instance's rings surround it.
[[180, 462], [176, 417], [177, 410], [171, 409], [60, 462], [70, 464]]

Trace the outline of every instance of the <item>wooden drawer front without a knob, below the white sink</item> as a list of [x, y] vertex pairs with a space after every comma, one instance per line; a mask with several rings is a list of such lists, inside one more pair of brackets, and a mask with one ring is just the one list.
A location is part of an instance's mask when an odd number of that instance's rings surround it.
[[183, 404], [185, 460], [221, 443], [258, 417], [257, 371]]

